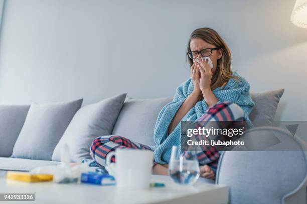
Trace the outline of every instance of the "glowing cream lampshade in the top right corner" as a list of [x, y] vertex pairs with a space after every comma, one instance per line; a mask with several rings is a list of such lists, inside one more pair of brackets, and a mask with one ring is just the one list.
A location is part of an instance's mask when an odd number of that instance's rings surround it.
[[307, 28], [307, 0], [296, 0], [290, 19], [294, 25]]

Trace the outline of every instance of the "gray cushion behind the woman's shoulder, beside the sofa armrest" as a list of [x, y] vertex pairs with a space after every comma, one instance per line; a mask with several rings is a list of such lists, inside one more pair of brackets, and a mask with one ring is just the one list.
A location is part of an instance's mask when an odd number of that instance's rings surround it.
[[251, 93], [255, 107], [249, 114], [249, 119], [255, 126], [270, 125], [274, 119], [280, 97], [284, 89], [259, 93]]

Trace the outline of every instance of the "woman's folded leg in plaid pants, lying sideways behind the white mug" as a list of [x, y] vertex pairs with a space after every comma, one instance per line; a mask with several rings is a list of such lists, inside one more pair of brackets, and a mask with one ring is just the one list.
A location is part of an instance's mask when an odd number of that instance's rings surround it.
[[[105, 158], [110, 151], [117, 148], [135, 148], [152, 150], [149, 146], [127, 139], [118, 135], [99, 136], [95, 138], [90, 147], [90, 154], [96, 163], [100, 166], [105, 166]], [[115, 161], [115, 157], [111, 158]]]

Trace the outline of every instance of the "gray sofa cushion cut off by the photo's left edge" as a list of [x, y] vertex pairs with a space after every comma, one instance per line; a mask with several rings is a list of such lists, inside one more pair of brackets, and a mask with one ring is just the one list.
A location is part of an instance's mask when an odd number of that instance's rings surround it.
[[30, 105], [0, 105], [0, 156], [11, 156]]

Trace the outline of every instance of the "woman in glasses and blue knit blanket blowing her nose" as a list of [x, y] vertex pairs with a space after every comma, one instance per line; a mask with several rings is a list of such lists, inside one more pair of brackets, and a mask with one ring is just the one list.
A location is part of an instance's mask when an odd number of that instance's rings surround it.
[[[254, 106], [249, 83], [231, 71], [230, 50], [220, 35], [207, 27], [194, 30], [187, 55], [191, 77], [177, 88], [173, 101], [159, 113], [154, 131], [157, 145], [149, 147], [122, 136], [97, 137], [90, 152], [99, 165], [104, 166], [106, 154], [116, 148], [151, 149], [155, 157], [153, 172], [168, 174], [171, 147], [180, 145], [182, 120], [244, 120], [253, 127], [248, 118]], [[214, 150], [198, 152], [202, 177], [215, 179], [219, 155]]]

